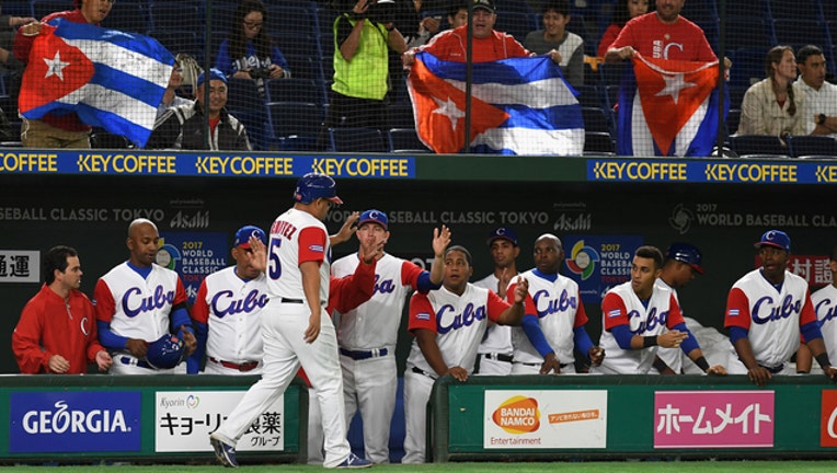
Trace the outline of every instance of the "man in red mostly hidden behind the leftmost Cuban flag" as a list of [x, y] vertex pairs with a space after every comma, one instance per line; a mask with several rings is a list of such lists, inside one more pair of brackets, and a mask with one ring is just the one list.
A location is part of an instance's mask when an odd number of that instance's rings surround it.
[[[22, 26], [14, 37], [14, 56], [24, 64], [28, 62], [32, 44], [44, 23], [62, 18], [73, 23], [98, 26], [111, 12], [114, 1], [73, 0], [76, 10], [51, 13], [44, 16], [41, 23]], [[90, 148], [90, 129], [74, 113], [61, 116], [49, 113], [37, 120], [23, 118], [21, 141], [26, 148]]]

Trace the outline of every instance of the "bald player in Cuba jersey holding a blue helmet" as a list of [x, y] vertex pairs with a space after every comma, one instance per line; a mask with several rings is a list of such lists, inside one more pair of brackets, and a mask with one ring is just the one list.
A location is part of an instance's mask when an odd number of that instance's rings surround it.
[[147, 346], [170, 333], [185, 342], [186, 355], [197, 346], [180, 276], [154, 264], [159, 241], [153, 222], [134, 220], [128, 227], [130, 257], [102, 276], [93, 291], [99, 342], [113, 356], [111, 374], [185, 373], [185, 364], [173, 369], [149, 365]]

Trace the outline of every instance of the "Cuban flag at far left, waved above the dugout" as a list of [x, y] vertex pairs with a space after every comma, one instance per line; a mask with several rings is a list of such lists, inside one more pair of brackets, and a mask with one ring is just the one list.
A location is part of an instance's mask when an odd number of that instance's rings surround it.
[[23, 117], [74, 112], [144, 147], [174, 57], [156, 39], [55, 19], [42, 25], [23, 73]]

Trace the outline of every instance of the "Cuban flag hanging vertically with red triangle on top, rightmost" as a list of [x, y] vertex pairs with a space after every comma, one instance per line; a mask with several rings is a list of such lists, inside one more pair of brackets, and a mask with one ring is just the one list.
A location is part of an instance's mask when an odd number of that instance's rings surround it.
[[[716, 85], [718, 61], [637, 55], [619, 89], [618, 153], [710, 155], [718, 137]], [[725, 103], [724, 116], [727, 108]]]

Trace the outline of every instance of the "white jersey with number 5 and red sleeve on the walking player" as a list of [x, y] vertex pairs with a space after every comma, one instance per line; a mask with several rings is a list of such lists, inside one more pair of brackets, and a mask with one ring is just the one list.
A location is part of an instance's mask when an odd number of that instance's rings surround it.
[[320, 264], [320, 303], [329, 300], [329, 234], [323, 222], [295, 208], [278, 216], [267, 242], [267, 293], [271, 298], [305, 300], [302, 272], [306, 262]]

